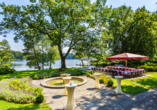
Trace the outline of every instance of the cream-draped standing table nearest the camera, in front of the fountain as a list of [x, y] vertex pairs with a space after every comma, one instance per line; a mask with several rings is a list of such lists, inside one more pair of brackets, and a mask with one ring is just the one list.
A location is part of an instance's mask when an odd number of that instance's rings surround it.
[[65, 87], [68, 91], [68, 101], [65, 110], [74, 110], [76, 107], [75, 101], [74, 101], [74, 90], [77, 85], [75, 84], [66, 84]]

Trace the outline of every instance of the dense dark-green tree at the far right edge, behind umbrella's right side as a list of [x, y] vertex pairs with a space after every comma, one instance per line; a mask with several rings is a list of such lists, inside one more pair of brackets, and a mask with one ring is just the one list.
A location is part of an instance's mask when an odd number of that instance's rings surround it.
[[150, 13], [145, 7], [135, 11], [133, 22], [128, 31], [128, 51], [147, 55], [152, 59], [157, 46], [157, 14]]

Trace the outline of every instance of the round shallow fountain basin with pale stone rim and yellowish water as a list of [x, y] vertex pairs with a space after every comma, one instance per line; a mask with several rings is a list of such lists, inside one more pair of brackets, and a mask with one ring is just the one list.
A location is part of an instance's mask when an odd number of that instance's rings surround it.
[[[87, 82], [87, 79], [85, 77], [71, 76], [70, 82], [72, 84], [76, 84], [77, 86], [80, 86], [82, 84], [85, 84]], [[65, 87], [62, 77], [54, 77], [54, 78], [45, 79], [40, 84], [44, 87], [49, 87], [49, 88], [64, 88]]]

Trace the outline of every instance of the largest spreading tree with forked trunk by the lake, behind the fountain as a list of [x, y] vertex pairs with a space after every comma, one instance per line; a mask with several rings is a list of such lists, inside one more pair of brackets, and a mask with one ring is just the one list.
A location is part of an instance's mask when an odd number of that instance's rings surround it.
[[[88, 29], [106, 24], [110, 9], [105, 3], [106, 0], [96, 0], [93, 4], [90, 0], [39, 0], [27, 6], [2, 3], [4, 19], [0, 31], [14, 30], [15, 41], [25, 39], [29, 31], [47, 35], [58, 46], [61, 67], [65, 68], [67, 55], [80, 41], [86, 41]], [[68, 47], [65, 55], [64, 47]]]

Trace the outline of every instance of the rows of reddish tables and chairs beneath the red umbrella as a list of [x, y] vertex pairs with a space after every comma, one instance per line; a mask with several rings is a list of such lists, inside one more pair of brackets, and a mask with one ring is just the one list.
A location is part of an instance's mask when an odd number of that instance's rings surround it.
[[114, 76], [123, 76], [124, 78], [134, 78], [143, 76], [145, 72], [144, 69], [136, 69], [129, 67], [115, 67], [115, 66], [107, 66], [107, 67], [95, 67], [92, 68], [93, 71], [105, 72], [107, 75]]

